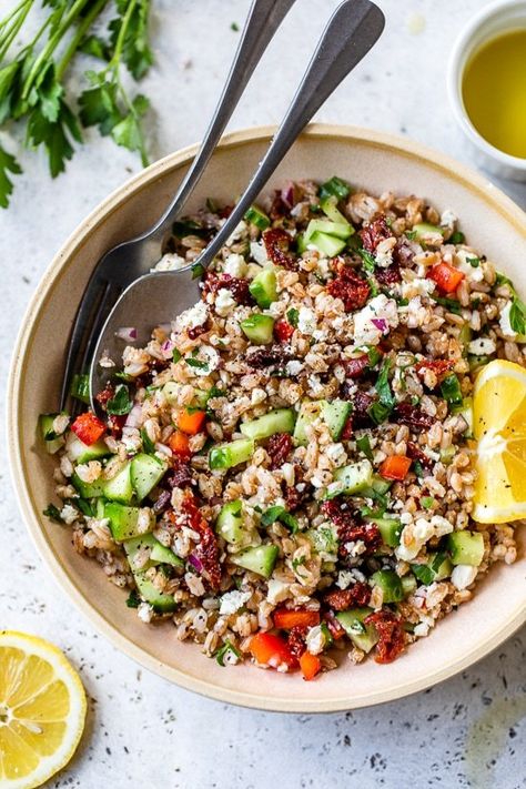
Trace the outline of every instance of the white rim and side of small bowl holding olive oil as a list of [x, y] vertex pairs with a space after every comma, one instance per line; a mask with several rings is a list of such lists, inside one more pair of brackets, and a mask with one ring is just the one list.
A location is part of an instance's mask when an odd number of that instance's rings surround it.
[[455, 40], [447, 68], [447, 92], [449, 95], [449, 103], [453, 108], [455, 119], [463, 132], [479, 151], [483, 151], [487, 156], [493, 159], [494, 162], [507, 165], [508, 168], [512, 168], [520, 173], [526, 172], [526, 158], [515, 156], [512, 153], [506, 153], [499, 148], [496, 148], [481, 134], [473, 123], [464, 105], [464, 99], [462, 95], [462, 78], [474, 52], [481, 49], [484, 44], [488, 43], [488, 41], [492, 41], [494, 38], [498, 38], [498, 34], [486, 36], [483, 42], [478, 43], [476, 47], [473, 47], [475, 36], [484, 29], [486, 22], [497, 14], [503, 14], [505, 12], [513, 13], [516, 9], [520, 10], [523, 8], [526, 10], [525, 0], [496, 0], [496, 2], [492, 2], [489, 6], [485, 6], [477, 11], [462, 29]]

